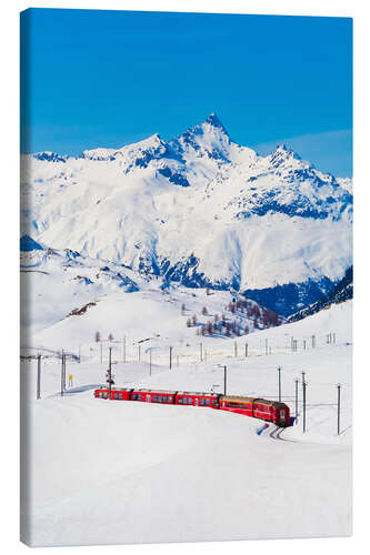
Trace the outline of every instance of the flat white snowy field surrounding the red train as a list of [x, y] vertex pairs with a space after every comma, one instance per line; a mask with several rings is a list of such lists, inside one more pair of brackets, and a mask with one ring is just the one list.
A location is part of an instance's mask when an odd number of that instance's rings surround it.
[[[107, 344], [101, 363], [99, 346], [84, 343], [87, 337], [91, 341], [90, 331], [79, 335], [72, 319], [57, 325], [69, 326], [60, 337], [73, 343], [71, 351], [82, 350], [81, 363], [67, 360], [73, 386], [61, 397], [60, 360], [54, 353], [62, 345], [51, 344], [52, 336], [59, 337], [58, 327], [50, 329], [50, 336], [48, 330], [40, 332], [34, 351], [49, 352], [42, 361], [41, 400], [36, 401], [36, 361], [21, 363], [31, 438], [22, 462], [24, 467], [29, 464], [23, 539], [48, 546], [349, 535], [351, 309], [347, 302], [300, 322], [254, 332], [248, 335], [248, 357], [247, 336], [200, 340], [192, 333], [191, 344], [190, 335], [182, 337], [184, 343], [179, 339], [171, 369], [164, 337], [157, 356], [152, 353], [151, 369], [144, 349], [140, 361], [131, 353], [123, 363], [123, 343], [112, 343], [114, 380], [123, 386], [222, 393], [220, 364], [227, 365], [228, 393], [273, 400], [281, 366], [282, 401], [292, 416], [294, 380], [300, 382], [298, 423], [280, 438], [273, 425], [263, 430], [261, 421], [222, 411], [94, 400], [93, 389], [103, 383], [108, 367]], [[181, 330], [190, 333], [186, 326]], [[336, 334], [331, 344], [329, 333]], [[291, 352], [291, 337], [297, 352]], [[202, 361], [200, 341], [209, 351], [207, 360], [203, 351]], [[308, 383], [304, 434], [302, 372]]]

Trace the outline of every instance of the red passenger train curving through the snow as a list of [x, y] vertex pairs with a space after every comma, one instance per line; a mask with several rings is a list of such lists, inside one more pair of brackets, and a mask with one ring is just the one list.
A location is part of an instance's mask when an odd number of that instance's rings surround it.
[[[98, 387], [94, 391], [97, 398], [108, 398], [109, 389]], [[286, 427], [290, 424], [289, 406], [277, 401], [266, 398], [219, 395], [216, 393], [201, 393], [189, 391], [163, 391], [112, 387], [110, 398], [116, 401], [141, 401], [146, 403], [162, 403], [169, 405], [208, 406], [221, 411], [246, 414], [253, 418], [273, 422]]]

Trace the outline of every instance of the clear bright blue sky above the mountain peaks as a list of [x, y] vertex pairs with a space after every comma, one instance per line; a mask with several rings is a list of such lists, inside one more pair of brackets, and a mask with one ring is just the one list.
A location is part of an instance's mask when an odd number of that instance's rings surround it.
[[22, 152], [170, 139], [217, 112], [240, 144], [352, 173], [350, 19], [31, 9], [21, 31]]

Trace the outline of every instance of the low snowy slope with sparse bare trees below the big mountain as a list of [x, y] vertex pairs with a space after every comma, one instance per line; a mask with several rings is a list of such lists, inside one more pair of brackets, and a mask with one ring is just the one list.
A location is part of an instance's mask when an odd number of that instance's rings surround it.
[[[23, 235], [20, 241], [22, 345], [76, 343], [130, 332], [172, 345], [230, 339], [283, 323], [278, 314], [228, 291], [189, 289], [113, 262], [56, 250]], [[126, 294], [122, 294], [126, 293]], [[144, 315], [144, 317], [143, 317]], [[83, 317], [82, 317], [83, 316]], [[81, 325], [82, 324], [82, 325]], [[81, 332], [83, 330], [83, 332]], [[32, 339], [31, 339], [32, 336]]]

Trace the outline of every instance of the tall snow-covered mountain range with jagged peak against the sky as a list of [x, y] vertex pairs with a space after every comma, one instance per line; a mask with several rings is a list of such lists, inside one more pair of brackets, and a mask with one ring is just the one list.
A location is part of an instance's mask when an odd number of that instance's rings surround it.
[[280, 145], [232, 142], [216, 114], [80, 157], [22, 157], [22, 232], [187, 286], [233, 289], [288, 315], [352, 263], [348, 180]]

